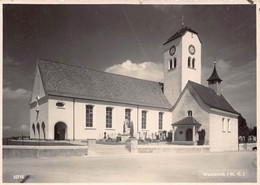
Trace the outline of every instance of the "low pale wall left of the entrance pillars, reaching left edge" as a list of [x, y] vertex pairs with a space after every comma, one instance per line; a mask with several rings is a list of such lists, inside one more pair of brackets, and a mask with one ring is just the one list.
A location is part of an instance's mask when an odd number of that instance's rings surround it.
[[86, 146], [3, 146], [5, 159], [82, 156], [87, 153]]

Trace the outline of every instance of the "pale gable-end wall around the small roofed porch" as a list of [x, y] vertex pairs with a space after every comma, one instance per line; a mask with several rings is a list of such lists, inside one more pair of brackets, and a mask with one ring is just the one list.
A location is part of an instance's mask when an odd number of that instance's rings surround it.
[[[195, 94], [194, 94], [195, 95]], [[196, 97], [195, 97], [196, 98]], [[197, 99], [197, 98], [196, 98]], [[200, 103], [202, 104], [202, 103]], [[176, 105], [172, 113], [172, 122], [175, 123], [188, 116], [188, 110], [192, 111], [192, 116], [201, 124], [198, 130], [205, 130], [205, 144], [209, 143], [209, 114], [201, 108], [194, 97], [191, 95], [189, 90], [186, 90]], [[196, 130], [196, 132], [198, 131]], [[182, 134], [180, 132], [182, 131]], [[179, 128], [175, 131], [176, 138], [185, 140], [185, 129]], [[198, 137], [198, 136], [197, 136]]]

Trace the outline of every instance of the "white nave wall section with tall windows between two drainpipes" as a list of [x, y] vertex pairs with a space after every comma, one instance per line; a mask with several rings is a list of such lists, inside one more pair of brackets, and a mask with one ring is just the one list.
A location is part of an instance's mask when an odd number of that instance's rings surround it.
[[[86, 127], [86, 105], [93, 106], [93, 127]], [[112, 108], [112, 128], [106, 128], [106, 108]], [[131, 121], [136, 128], [136, 107], [122, 106], [101, 101], [76, 100], [75, 104], [75, 137], [76, 139], [101, 139], [106, 136], [116, 137], [123, 132], [125, 109], [131, 109]], [[136, 131], [135, 131], [136, 132]]]

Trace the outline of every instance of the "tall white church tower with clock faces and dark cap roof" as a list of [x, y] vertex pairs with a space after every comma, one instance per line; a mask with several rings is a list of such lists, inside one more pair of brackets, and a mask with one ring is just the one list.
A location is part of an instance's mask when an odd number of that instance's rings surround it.
[[174, 105], [189, 80], [201, 84], [201, 41], [185, 26], [163, 45], [164, 94]]

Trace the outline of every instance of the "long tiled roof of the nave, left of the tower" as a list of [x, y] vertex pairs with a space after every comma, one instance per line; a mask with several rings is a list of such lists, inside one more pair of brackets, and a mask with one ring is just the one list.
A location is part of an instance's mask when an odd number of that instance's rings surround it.
[[106, 73], [64, 63], [38, 60], [48, 95], [170, 109], [159, 82]]

